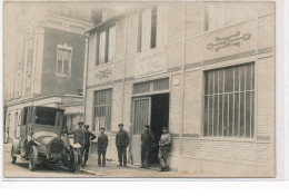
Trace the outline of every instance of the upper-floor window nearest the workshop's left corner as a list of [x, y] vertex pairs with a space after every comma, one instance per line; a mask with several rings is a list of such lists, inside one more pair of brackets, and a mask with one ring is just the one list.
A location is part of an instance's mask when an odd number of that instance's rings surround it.
[[97, 65], [114, 60], [116, 26], [111, 26], [98, 33]]

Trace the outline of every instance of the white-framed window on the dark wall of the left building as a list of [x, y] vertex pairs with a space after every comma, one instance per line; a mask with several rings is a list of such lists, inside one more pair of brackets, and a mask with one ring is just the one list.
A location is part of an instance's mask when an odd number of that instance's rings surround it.
[[72, 48], [67, 45], [57, 47], [57, 76], [71, 77]]

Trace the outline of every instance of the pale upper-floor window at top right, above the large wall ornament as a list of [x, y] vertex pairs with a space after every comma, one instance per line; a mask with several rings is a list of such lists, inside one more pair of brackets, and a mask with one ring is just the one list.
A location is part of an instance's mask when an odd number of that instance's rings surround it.
[[253, 3], [207, 2], [205, 7], [205, 31], [253, 19], [257, 9]]

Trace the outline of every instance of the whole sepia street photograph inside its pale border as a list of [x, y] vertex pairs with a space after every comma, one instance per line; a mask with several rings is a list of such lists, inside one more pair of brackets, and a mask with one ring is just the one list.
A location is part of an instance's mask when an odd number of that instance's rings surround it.
[[4, 1], [3, 177], [276, 177], [276, 2]]

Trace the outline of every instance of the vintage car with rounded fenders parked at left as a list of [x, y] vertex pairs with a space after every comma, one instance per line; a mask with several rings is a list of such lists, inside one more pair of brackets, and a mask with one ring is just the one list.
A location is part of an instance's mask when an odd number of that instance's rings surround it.
[[29, 161], [29, 169], [37, 164], [67, 166], [71, 171], [79, 168], [79, 145], [70, 144], [68, 136], [61, 135], [63, 109], [29, 106], [21, 111], [20, 136], [13, 138], [11, 158]]

